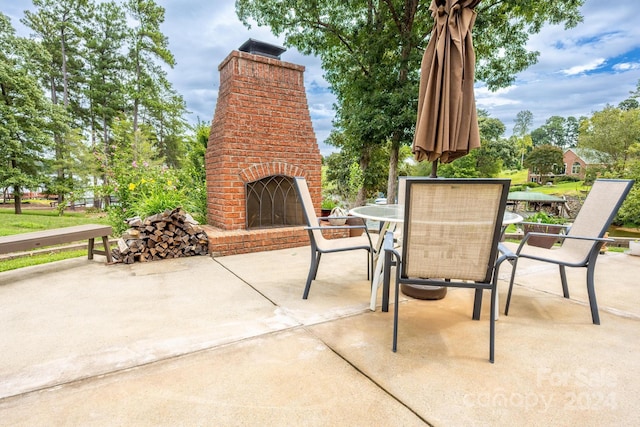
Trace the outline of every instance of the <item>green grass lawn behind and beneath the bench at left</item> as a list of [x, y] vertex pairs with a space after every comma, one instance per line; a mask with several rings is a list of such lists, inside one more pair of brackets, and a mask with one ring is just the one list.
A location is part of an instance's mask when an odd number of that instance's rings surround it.
[[[55, 209], [37, 208], [23, 206], [22, 214], [16, 215], [14, 209], [0, 208], [0, 236], [12, 234], [28, 233], [30, 231], [49, 230], [52, 228], [71, 227], [81, 224], [106, 224], [105, 213], [86, 213], [82, 211], [65, 212], [58, 215]], [[87, 250], [59, 251], [51, 248], [50, 252], [34, 254], [29, 252], [29, 256], [5, 259], [0, 261], [0, 272], [14, 270], [16, 268], [31, 265], [46, 264], [53, 261], [60, 261], [68, 258], [87, 256]]]

